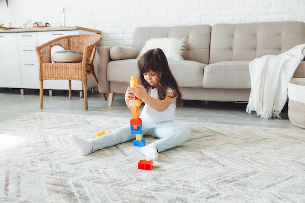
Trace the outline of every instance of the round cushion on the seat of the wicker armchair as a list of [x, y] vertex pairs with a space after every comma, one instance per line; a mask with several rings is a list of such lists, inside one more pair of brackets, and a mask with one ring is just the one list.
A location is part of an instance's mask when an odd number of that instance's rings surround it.
[[60, 50], [53, 54], [52, 59], [55, 63], [80, 63], [83, 54], [74, 50]]

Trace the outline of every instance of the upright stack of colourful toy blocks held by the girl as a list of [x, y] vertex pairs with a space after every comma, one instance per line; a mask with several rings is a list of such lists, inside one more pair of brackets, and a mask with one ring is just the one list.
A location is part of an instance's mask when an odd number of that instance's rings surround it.
[[[132, 76], [130, 80], [130, 87], [135, 89], [133, 85], [138, 85], [135, 76]], [[134, 95], [133, 98], [129, 100], [129, 106], [132, 108], [132, 119], [130, 120], [131, 134], [135, 134], [133, 146], [144, 147], [145, 140], [143, 140], [142, 120], [139, 118], [139, 106], [141, 106], [141, 100]]]

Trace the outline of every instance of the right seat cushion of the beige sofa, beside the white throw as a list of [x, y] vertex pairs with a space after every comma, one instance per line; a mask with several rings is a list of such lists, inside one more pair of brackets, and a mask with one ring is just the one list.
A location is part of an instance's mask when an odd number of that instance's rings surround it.
[[203, 87], [222, 89], [250, 89], [250, 61], [222, 61], [204, 69]]

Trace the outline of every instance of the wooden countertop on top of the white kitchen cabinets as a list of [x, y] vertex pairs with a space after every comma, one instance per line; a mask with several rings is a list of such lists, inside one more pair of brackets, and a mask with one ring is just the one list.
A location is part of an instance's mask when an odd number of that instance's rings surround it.
[[83, 30], [101, 34], [99, 30], [83, 28], [78, 26], [72, 27], [44, 27], [44, 28], [13, 28], [13, 29], [0, 29], [0, 33], [20, 33], [20, 32], [42, 32], [42, 31], [68, 31], [68, 30]]

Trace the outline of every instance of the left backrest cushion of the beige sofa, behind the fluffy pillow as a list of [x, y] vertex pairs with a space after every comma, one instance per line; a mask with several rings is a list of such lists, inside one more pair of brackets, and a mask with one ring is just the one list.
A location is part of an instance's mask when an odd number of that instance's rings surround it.
[[137, 27], [133, 33], [133, 48], [141, 50], [148, 39], [159, 37], [186, 37], [185, 60], [209, 63], [210, 25], [172, 27]]

